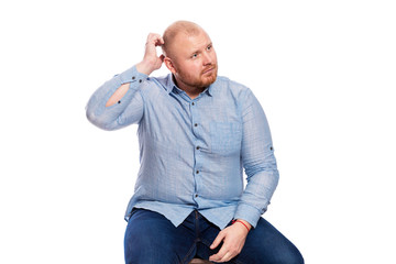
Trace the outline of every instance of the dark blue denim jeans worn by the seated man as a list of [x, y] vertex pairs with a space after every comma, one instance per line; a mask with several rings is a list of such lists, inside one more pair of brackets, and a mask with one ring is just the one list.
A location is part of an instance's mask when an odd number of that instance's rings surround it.
[[[219, 232], [220, 229], [198, 211], [175, 228], [157, 212], [134, 209], [125, 230], [125, 263], [184, 264], [195, 256], [209, 260], [222, 245], [209, 249]], [[304, 258], [290, 241], [261, 218], [256, 228], [249, 232], [242, 252], [228, 263], [301, 264]]]

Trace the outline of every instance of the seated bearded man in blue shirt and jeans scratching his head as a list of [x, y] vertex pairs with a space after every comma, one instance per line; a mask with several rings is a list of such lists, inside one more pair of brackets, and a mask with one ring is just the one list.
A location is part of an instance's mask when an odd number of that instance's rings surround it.
[[[148, 77], [163, 63], [170, 74]], [[264, 111], [249, 88], [217, 73], [208, 34], [178, 21], [163, 37], [150, 34], [143, 61], [88, 102], [87, 117], [101, 129], [139, 123], [141, 167], [125, 213], [128, 264], [188, 263], [196, 255], [218, 263], [304, 263], [261, 218], [278, 182]]]

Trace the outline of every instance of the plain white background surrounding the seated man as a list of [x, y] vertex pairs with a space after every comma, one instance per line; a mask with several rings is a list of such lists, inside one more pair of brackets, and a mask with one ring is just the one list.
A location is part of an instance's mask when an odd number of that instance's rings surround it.
[[180, 19], [267, 114], [280, 182], [266, 219], [306, 263], [396, 263], [395, 13], [381, 0], [1, 2], [0, 263], [123, 263], [136, 127], [101, 131], [85, 106]]

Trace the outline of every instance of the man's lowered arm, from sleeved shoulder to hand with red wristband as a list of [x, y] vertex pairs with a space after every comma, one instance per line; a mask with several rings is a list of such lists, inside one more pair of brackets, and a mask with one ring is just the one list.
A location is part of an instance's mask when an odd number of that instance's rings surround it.
[[215, 262], [228, 262], [242, 251], [250, 229], [266, 211], [279, 177], [270, 127], [260, 102], [250, 89], [241, 101], [242, 162], [248, 185], [234, 215], [239, 221], [220, 231], [210, 246], [213, 250], [223, 241], [219, 252], [209, 258]]

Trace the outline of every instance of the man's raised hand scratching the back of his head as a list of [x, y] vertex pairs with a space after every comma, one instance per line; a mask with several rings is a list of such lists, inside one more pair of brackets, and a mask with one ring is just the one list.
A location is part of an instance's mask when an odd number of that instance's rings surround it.
[[150, 75], [154, 70], [161, 68], [165, 56], [157, 56], [156, 46], [162, 46], [163, 44], [164, 38], [161, 35], [155, 33], [148, 34], [143, 61], [136, 64], [136, 69], [140, 73]]

